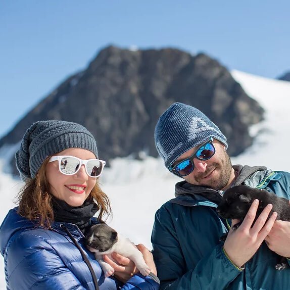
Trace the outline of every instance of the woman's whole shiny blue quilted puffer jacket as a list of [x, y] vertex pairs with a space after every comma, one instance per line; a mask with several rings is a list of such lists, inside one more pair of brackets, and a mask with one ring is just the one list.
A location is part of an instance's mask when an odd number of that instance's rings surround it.
[[[92, 222], [96, 220], [93, 218]], [[9, 211], [0, 228], [0, 250], [5, 259], [8, 290], [95, 288], [88, 266], [61, 224], [55, 222], [53, 230], [45, 230], [21, 217], [17, 208]], [[159, 288], [154, 275], [144, 277], [137, 274], [124, 285], [114, 278], [105, 278], [94, 255], [85, 248], [85, 238], [78, 227], [63, 224], [85, 252], [98, 278], [100, 290]]]

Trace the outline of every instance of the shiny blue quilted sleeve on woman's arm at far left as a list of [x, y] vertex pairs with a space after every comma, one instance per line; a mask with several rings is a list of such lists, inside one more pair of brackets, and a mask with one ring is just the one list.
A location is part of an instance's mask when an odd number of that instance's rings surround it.
[[5, 253], [8, 289], [85, 289], [53, 247], [40, 236], [23, 232]]

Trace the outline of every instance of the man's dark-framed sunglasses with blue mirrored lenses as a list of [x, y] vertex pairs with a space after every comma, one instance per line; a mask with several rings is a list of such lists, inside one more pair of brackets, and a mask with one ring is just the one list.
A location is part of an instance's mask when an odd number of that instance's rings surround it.
[[208, 141], [202, 144], [196, 151], [194, 155], [180, 161], [174, 166], [169, 168], [170, 171], [179, 175], [186, 176], [190, 174], [195, 169], [194, 159], [197, 158], [199, 160], [208, 160], [212, 158], [215, 154], [216, 150], [213, 145], [213, 138], [210, 138]]

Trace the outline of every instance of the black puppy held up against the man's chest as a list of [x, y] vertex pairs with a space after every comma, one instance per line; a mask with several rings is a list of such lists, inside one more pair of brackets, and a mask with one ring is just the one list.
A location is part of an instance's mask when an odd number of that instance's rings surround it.
[[[290, 205], [287, 199], [280, 198], [272, 192], [246, 185], [233, 186], [227, 189], [224, 192], [222, 201], [217, 207], [217, 212], [225, 219], [239, 219], [241, 223], [255, 199], [259, 200], [259, 207], [254, 222], [268, 204], [273, 205], [269, 217], [275, 211], [278, 214], [278, 220], [290, 221]], [[240, 223], [236, 224], [233, 229], [236, 229]], [[282, 259], [276, 265], [276, 269], [278, 270], [287, 267], [286, 259], [283, 257], [280, 258]]]

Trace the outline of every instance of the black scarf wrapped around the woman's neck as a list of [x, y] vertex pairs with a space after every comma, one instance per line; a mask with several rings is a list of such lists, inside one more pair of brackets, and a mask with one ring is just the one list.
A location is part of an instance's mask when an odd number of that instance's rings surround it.
[[65, 201], [55, 197], [53, 197], [52, 202], [55, 221], [73, 223], [77, 225], [83, 233], [86, 227], [90, 225], [90, 219], [99, 209], [92, 198], [87, 198], [80, 207], [72, 207]]

